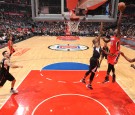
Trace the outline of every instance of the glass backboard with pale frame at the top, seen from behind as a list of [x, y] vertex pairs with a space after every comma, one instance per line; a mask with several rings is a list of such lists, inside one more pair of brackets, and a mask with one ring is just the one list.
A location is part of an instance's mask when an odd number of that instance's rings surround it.
[[[74, 10], [82, 21], [113, 22], [117, 19], [118, 2], [119, 0], [31, 0], [32, 18], [43, 21], [70, 20], [69, 11]], [[85, 11], [85, 14], [80, 11]]]

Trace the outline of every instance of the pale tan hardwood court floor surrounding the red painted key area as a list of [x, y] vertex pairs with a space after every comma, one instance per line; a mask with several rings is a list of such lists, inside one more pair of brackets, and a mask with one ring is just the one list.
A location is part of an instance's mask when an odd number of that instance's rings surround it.
[[[76, 41], [58, 40], [57, 37], [50, 36], [35, 36], [25, 41], [16, 44], [16, 53], [12, 56], [11, 61], [15, 64], [23, 65], [23, 68], [10, 69], [10, 72], [17, 79], [15, 87], [22, 82], [31, 70], [41, 70], [46, 65], [57, 62], [80, 62], [89, 64], [89, 58], [92, 55], [92, 39], [91, 37], [80, 37]], [[55, 44], [80, 44], [88, 46], [88, 50], [84, 51], [55, 51], [48, 49], [48, 46]], [[7, 50], [7, 47], [0, 50]], [[135, 57], [135, 50], [121, 46], [121, 51], [128, 57]], [[2, 55], [0, 56], [0, 60]], [[122, 56], [119, 59], [116, 67], [117, 82], [128, 96], [135, 102], [135, 70], [130, 67]], [[106, 70], [107, 62], [103, 60], [99, 70]], [[10, 82], [6, 82], [3, 88], [0, 89], [0, 105], [10, 96]]]

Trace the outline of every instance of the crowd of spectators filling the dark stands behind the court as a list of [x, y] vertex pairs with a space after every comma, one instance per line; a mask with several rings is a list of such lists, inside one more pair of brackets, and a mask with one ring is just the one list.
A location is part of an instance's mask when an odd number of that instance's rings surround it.
[[[0, 4], [0, 44], [5, 44], [8, 41], [9, 34], [13, 35], [14, 41], [24, 40], [34, 35], [66, 35], [66, 22], [35, 22], [32, 20], [31, 15], [29, 13], [22, 13], [22, 10], [19, 10], [19, 8], [21, 8], [20, 5], [14, 8], [10, 6], [12, 6], [12, 4], [8, 4], [8, 8], [5, 7], [3, 4]], [[22, 6], [21, 9], [23, 9], [23, 7], [24, 6]], [[114, 25], [116, 25], [116, 23], [105, 23], [105, 31], [108, 32], [109, 28], [115, 29], [116, 26]], [[94, 36], [95, 32], [98, 33], [99, 27], [100, 23], [80, 22], [78, 26], [78, 32], [71, 32], [71, 35]], [[125, 38], [135, 39], [135, 17], [129, 17], [127, 15], [123, 17], [121, 29], [122, 35]]]

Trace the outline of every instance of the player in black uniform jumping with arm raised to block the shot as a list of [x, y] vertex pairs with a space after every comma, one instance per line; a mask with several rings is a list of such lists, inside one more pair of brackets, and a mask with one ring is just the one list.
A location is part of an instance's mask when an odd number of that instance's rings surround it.
[[99, 67], [99, 58], [102, 51], [101, 46], [100, 46], [100, 37], [102, 35], [102, 28], [103, 28], [103, 24], [101, 23], [100, 34], [98, 35], [98, 37], [96, 37], [93, 40], [93, 44], [94, 44], [93, 55], [90, 58], [89, 70], [85, 73], [84, 77], [80, 80], [82, 83], [86, 84], [85, 79], [91, 73], [90, 78], [89, 78], [89, 84], [86, 85], [86, 87], [91, 90], [93, 89], [92, 82], [95, 76], [95, 72], [97, 71], [97, 68]]

